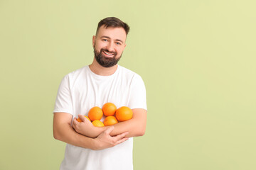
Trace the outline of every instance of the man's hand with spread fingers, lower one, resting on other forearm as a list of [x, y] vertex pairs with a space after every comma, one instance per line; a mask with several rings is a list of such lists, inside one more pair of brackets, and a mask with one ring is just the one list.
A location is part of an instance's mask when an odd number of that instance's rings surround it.
[[114, 126], [107, 128], [107, 130], [103, 131], [97, 138], [95, 138], [95, 150], [114, 147], [129, 139], [128, 137], [125, 137], [129, 132], [124, 132], [114, 137], [110, 136], [112, 130], [114, 130]]

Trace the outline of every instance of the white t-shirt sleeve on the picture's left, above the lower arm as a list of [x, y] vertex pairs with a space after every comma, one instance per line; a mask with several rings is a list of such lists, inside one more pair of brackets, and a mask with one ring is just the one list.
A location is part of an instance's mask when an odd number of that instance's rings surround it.
[[73, 104], [69, 79], [70, 78], [68, 75], [66, 75], [60, 83], [53, 113], [63, 112], [73, 115]]

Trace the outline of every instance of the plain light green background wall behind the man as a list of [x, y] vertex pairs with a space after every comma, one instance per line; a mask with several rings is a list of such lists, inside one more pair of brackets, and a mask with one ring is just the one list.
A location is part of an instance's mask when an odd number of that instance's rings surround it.
[[256, 12], [249, 0], [0, 1], [0, 169], [58, 169], [61, 79], [92, 62], [97, 23], [129, 23], [120, 65], [146, 84], [134, 169], [256, 169]]

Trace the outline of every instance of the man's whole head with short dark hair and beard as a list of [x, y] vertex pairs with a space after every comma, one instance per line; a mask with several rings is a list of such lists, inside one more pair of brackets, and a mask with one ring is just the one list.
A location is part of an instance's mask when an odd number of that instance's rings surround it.
[[129, 26], [118, 18], [109, 17], [98, 23], [92, 45], [95, 59], [102, 67], [112, 67], [117, 64], [126, 47], [128, 33]]

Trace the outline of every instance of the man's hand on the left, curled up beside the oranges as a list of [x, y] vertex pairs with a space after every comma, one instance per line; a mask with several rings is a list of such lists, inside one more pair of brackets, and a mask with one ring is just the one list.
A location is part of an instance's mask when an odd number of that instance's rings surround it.
[[87, 137], [97, 137], [96, 127], [92, 125], [90, 120], [87, 120], [85, 116], [78, 115], [78, 117], [82, 120], [82, 122], [78, 122], [77, 118], [74, 118], [73, 120], [73, 128], [76, 132], [85, 135]]

